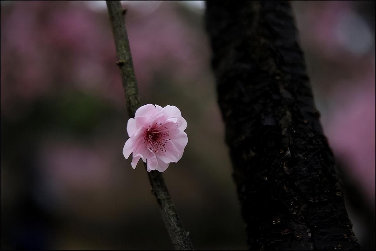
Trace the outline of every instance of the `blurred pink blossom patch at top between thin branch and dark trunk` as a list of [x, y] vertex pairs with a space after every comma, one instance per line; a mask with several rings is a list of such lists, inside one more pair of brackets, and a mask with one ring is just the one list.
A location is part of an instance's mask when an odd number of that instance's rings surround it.
[[138, 81], [151, 82], [154, 73], [163, 68], [173, 68], [169, 74], [179, 79], [197, 75], [209, 63], [209, 50], [197, 51], [205, 48], [205, 37], [186, 24], [176, 5], [162, 2], [145, 14], [141, 10], [147, 5], [126, 6], [126, 27]]

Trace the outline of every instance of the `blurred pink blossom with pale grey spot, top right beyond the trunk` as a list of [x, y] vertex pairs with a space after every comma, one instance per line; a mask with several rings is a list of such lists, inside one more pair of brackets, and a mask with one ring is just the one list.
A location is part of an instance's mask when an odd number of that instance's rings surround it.
[[[344, 58], [363, 56], [373, 39], [367, 23], [351, 2], [301, 2], [297, 12], [300, 39], [326, 59], [344, 62]], [[345, 60], [346, 61], [346, 60]]]

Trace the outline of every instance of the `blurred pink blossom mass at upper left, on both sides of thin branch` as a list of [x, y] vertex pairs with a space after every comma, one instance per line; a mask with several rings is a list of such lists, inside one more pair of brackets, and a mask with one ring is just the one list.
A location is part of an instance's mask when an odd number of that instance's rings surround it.
[[[177, 13], [178, 5], [127, 6], [126, 26], [141, 93], [149, 89], [156, 72], [168, 68], [173, 78], [192, 79], [209, 65], [208, 51], [197, 49], [207, 42], [205, 36], [187, 25]], [[21, 114], [21, 107], [32, 106], [39, 97], [72, 89], [124, 107], [105, 10], [92, 11], [79, 2], [13, 2], [1, 18], [3, 114]]]

